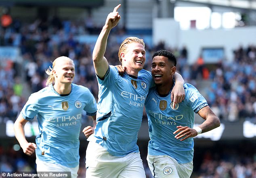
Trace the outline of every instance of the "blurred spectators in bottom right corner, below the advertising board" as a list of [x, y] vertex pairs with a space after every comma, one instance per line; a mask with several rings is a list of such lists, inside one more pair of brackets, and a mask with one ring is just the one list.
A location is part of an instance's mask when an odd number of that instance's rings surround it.
[[251, 146], [250, 143], [237, 142], [225, 147], [220, 145], [211, 150], [206, 149], [201, 156], [196, 177], [256, 178], [256, 151]]

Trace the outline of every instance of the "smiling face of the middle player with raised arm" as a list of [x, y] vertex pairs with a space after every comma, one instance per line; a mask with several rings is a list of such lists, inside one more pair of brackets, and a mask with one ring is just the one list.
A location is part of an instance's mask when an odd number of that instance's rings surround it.
[[143, 69], [146, 60], [146, 51], [143, 44], [132, 42], [127, 45], [126, 51], [121, 53], [122, 66], [126, 66], [130, 75], [137, 76], [138, 72]]

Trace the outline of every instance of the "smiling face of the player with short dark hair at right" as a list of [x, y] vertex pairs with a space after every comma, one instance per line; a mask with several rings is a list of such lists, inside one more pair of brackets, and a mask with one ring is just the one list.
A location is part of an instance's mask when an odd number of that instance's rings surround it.
[[155, 56], [152, 60], [151, 74], [156, 85], [172, 84], [176, 67], [165, 56]]

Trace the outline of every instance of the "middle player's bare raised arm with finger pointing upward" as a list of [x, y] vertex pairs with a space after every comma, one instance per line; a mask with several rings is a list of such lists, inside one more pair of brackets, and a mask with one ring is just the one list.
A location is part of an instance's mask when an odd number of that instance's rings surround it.
[[100, 78], [104, 77], [109, 66], [107, 59], [104, 57], [104, 54], [106, 51], [107, 38], [109, 36], [109, 32], [113, 27], [115, 27], [118, 24], [119, 20], [121, 19], [117, 11], [120, 6], [121, 4], [116, 6], [113, 12], [110, 12], [108, 14], [105, 25], [101, 30], [101, 33], [95, 43], [95, 46], [92, 52], [92, 60], [93, 60], [95, 72]]

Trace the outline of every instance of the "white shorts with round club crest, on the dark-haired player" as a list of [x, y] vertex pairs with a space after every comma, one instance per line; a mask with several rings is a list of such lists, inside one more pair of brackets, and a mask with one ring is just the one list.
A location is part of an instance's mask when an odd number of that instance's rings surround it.
[[147, 163], [154, 178], [189, 178], [193, 171], [193, 161], [178, 164], [168, 155], [147, 155]]

